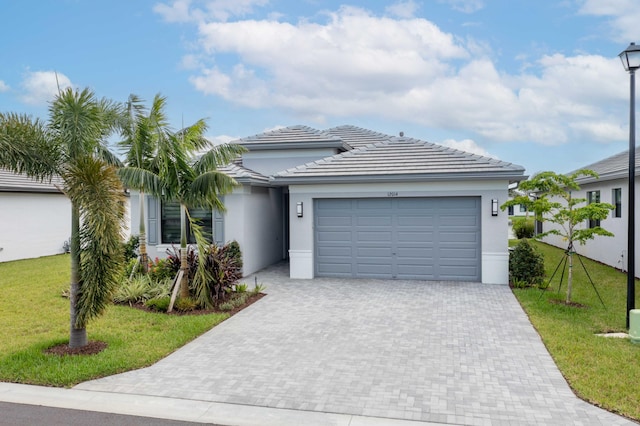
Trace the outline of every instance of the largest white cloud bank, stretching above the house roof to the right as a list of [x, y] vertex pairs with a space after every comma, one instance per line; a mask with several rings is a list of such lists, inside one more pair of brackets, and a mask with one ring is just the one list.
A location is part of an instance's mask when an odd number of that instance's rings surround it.
[[238, 105], [280, 108], [317, 123], [382, 117], [464, 130], [477, 140], [624, 139], [628, 89], [617, 58], [548, 55], [508, 74], [482, 41], [462, 40], [426, 19], [355, 7], [327, 12], [325, 22], [207, 20], [198, 31], [200, 50], [186, 61], [198, 67], [191, 83]]

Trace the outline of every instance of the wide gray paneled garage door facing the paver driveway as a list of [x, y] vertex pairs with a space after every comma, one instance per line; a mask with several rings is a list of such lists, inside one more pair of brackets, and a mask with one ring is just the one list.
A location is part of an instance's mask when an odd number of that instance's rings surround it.
[[315, 201], [315, 273], [480, 281], [480, 198]]

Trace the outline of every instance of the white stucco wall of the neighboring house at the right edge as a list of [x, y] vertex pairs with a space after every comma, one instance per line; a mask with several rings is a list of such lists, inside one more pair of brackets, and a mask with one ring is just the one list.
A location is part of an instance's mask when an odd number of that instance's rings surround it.
[[[627, 212], [628, 212], [628, 182], [626, 179], [616, 179], [608, 181], [598, 181], [590, 184], [581, 185], [580, 191], [574, 191], [572, 196], [575, 198], [587, 198], [587, 191], [600, 191], [600, 201], [603, 203], [613, 204], [612, 201], [612, 189], [622, 189], [622, 217], [613, 217], [613, 212], [606, 219], [600, 221], [600, 226], [609, 232], [612, 232], [614, 237], [602, 237], [596, 236], [595, 239], [589, 240], [585, 245], [576, 244], [575, 249], [581, 256], [588, 257], [590, 259], [597, 260], [607, 265], [613, 266], [618, 269], [627, 269]], [[636, 178], [636, 276], [640, 276], [638, 271], [638, 265], [640, 264], [640, 253], [638, 249], [638, 230], [640, 229], [640, 209], [638, 208], [638, 192], [640, 191], [640, 179]], [[584, 206], [581, 204], [580, 206]], [[549, 222], [543, 223], [543, 231], [553, 229], [554, 224]], [[585, 222], [582, 227], [586, 227]], [[550, 235], [543, 239], [544, 242], [552, 244], [556, 247], [563, 249], [567, 248], [567, 242], [555, 235]]]

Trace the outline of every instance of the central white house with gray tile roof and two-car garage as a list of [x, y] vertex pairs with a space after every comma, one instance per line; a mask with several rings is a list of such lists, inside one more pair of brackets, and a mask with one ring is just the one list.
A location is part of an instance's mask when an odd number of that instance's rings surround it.
[[[245, 275], [289, 258], [291, 278], [507, 284], [499, 205], [526, 178], [521, 166], [354, 126], [234, 143], [248, 152], [223, 169], [240, 184], [224, 197], [226, 213], [196, 214], [216, 242], [238, 241]], [[149, 254], [164, 256], [178, 245], [176, 205], [149, 199], [147, 218]]]

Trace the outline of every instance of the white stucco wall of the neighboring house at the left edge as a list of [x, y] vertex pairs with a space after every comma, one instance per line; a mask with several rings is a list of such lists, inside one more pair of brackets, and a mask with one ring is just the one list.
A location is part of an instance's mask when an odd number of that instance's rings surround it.
[[0, 193], [0, 262], [62, 253], [71, 203], [56, 193]]

